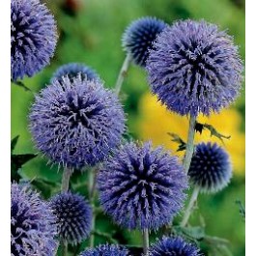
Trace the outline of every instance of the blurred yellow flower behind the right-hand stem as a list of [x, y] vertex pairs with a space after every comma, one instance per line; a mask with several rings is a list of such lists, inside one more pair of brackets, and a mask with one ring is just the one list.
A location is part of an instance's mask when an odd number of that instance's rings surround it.
[[[209, 130], [204, 129], [202, 134], [196, 132], [195, 143], [200, 141], [213, 141], [226, 148], [231, 155], [234, 171], [236, 174], [244, 175], [245, 164], [245, 136], [240, 127], [242, 117], [236, 109], [223, 109], [219, 114], [210, 117], [200, 115], [198, 122], [207, 123], [216, 128], [223, 135], [231, 135], [230, 139], [223, 139], [223, 143], [216, 137], [211, 137]], [[181, 117], [166, 109], [151, 94], [145, 94], [139, 103], [139, 119], [136, 124], [138, 135], [142, 140], [152, 140], [153, 144], [163, 145], [165, 148], [176, 152], [178, 144], [171, 141], [167, 132], [177, 133], [186, 141], [188, 119]], [[184, 153], [177, 153], [183, 156]]]

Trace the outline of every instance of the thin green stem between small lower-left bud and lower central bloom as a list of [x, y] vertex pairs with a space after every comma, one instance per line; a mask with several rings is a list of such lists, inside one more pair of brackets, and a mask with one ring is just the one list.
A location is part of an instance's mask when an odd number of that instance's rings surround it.
[[95, 190], [96, 190], [96, 170], [94, 168], [91, 168], [89, 170], [89, 200], [90, 204], [93, 209], [93, 217], [92, 217], [92, 232], [90, 234], [90, 247], [93, 248], [95, 245], [95, 220], [96, 220], [96, 213], [95, 213]]

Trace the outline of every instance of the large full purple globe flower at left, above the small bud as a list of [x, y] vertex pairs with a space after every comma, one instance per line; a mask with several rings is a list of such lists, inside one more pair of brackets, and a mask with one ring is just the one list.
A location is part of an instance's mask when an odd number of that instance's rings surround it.
[[99, 80], [66, 76], [36, 97], [30, 128], [45, 156], [79, 169], [103, 160], [120, 143], [125, 115], [115, 94]]

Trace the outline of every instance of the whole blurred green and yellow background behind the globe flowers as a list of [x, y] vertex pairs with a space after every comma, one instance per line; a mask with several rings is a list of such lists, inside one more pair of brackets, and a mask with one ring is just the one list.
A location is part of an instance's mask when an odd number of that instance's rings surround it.
[[[244, 61], [244, 1], [243, 0], [55, 0], [45, 1], [55, 15], [59, 30], [59, 42], [51, 64], [33, 78], [25, 78], [24, 84], [33, 92], [47, 85], [52, 73], [63, 64], [84, 63], [100, 73], [106, 87], [113, 87], [125, 59], [121, 37], [128, 24], [135, 18], [154, 15], [171, 24], [177, 19], [201, 19], [218, 24], [234, 36]], [[12, 85], [12, 138], [19, 135], [15, 154], [37, 153], [28, 130], [27, 115], [34, 94]], [[134, 65], [128, 71], [121, 99], [128, 114], [128, 136], [139, 140], [151, 139], [155, 145], [163, 145], [175, 154], [178, 144], [167, 132], [174, 132], [186, 139], [188, 122], [168, 112], [151, 95], [146, 72]], [[233, 255], [245, 255], [244, 221], [236, 200], [244, 204], [244, 84], [242, 95], [230, 108], [199, 121], [213, 125], [219, 132], [231, 135], [224, 144], [211, 137], [209, 131], [196, 134], [196, 142], [215, 141], [230, 153], [234, 175], [231, 184], [215, 195], [200, 195], [198, 210], [191, 223], [205, 223], [208, 235], [230, 241]], [[182, 156], [181, 153], [178, 156]], [[38, 156], [26, 163], [20, 173], [28, 179], [41, 179], [38, 184], [45, 198], [58, 191], [62, 171], [57, 166], [47, 165], [47, 159]], [[87, 194], [86, 174], [75, 174], [71, 188]], [[179, 219], [179, 217], [178, 217]], [[115, 226], [106, 216], [99, 215], [97, 228], [101, 234], [96, 242], [120, 242], [139, 245], [138, 232], [128, 232]], [[108, 238], [112, 234], [115, 241]], [[154, 236], [153, 240], [154, 240]], [[79, 251], [86, 245], [80, 244]], [[209, 254], [215, 255], [215, 254]], [[228, 255], [228, 254], [227, 254]]]

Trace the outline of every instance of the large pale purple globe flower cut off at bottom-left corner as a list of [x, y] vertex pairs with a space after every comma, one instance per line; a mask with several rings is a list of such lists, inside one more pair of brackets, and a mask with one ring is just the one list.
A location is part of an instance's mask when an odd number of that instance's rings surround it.
[[14, 256], [55, 255], [55, 217], [27, 185], [11, 185], [11, 250]]

